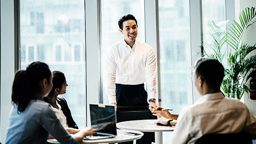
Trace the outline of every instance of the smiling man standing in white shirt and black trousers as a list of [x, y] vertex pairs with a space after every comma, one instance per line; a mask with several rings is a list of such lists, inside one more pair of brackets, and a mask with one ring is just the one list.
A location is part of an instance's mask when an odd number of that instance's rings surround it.
[[155, 51], [136, 39], [138, 25], [132, 14], [124, 15], [118, 25], [124, 39], [107, 49], [104, 61], [103, 76], [109, 103], [118, 107], [117, 110], [148, 109], [143, 106], [152, 110], [157, 107]]

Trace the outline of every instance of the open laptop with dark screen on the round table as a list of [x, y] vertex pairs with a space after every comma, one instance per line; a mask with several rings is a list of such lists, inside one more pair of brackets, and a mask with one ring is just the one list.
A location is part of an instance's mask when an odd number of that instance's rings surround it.
[[97, 134], [84, 137], [84, 140], [98, 140], [116, 137], [115, 106], [90, 103], [90, 116], [91, 127], [97, 131]]

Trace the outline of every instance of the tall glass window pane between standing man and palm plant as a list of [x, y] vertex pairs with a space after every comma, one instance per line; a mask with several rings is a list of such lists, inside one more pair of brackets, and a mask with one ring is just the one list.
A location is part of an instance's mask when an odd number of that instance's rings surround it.
[[189, 1], [159, 1], [162, 106], [173, 113], [192, 104]]

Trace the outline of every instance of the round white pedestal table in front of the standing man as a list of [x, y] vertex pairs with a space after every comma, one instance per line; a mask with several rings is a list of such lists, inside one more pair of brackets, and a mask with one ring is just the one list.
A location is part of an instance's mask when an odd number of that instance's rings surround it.
[[155, 124], [156, 119], [126, 121], [116, 124], [116, 127], [124, 130], [136, 130], [142, 132], [155, 132], [155, 143], [163, 143], [163, 132], [173, 131], [173, 126], [160, 126]]

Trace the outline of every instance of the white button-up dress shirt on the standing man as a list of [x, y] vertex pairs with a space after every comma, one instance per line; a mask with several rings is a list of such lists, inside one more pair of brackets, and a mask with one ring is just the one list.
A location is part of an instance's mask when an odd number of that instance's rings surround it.
[[103, 78], [109, 103], [116, 103], [116, 85], [147, 82], [148, 98], [156, 97], [156, 54], [136, 39], [132, 49], [124, 41], [110, 46], [105, 53]]

